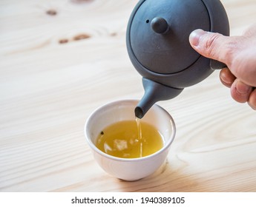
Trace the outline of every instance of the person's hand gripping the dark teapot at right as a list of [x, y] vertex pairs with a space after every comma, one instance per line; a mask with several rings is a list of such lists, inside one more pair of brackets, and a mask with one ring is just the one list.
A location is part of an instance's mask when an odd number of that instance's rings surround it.
[[233, 37], [194, 30], [189, 41], [201, 55], [227, 65], [220, 71], [220, 81], [230, 88], [235, 101], [247, 102], [256, 110], [256, 24]]

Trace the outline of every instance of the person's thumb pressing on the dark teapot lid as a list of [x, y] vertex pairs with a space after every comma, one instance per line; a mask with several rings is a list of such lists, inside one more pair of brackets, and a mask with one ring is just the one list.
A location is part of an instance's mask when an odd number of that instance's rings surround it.
[[191, 47], [198, 53], [229, 65], [229, 47], [230, 39], [219, 33], [209, 33], [204, 30], [194, 30], [189, 35]]

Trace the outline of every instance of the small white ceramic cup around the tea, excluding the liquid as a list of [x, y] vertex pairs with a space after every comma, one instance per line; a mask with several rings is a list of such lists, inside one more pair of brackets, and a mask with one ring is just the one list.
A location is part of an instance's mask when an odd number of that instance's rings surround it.
[[142, 121], [154, 126], [163, 136], [163, 147], [154, 154], [138, 158], [114, 157], [96, 147], [96, 139], [105, 127], [119, 121], [135, 121], [136, 100], [114, 101], [96, 109], [85, 123], [85, 137], [96, 162], [108, 174], [122, 180], [140, 180], [153, 174], [165, 162], [176, 128], [173, 118], [162, 107], [154, 104]]

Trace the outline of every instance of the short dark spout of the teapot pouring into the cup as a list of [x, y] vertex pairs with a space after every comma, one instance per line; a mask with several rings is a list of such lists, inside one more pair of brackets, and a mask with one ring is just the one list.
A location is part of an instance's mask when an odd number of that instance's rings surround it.
[[157, 101], [165, 101], [174, 98], [183, 91], [183, 89], [165, 86], [147, 78], [142, 78], [142, 84], [145, 93], [134, 110], [137, 118], [143, 118], [145, 113], [148, 112], [148, 109], [157, 103]]

